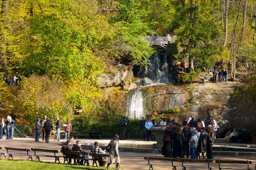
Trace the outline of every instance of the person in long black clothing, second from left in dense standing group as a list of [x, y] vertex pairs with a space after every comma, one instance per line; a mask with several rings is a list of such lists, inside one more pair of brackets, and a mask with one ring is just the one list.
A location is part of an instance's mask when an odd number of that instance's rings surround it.
[[182, 152], [182, 129], [181, 127], [176, 128], [173, 142], [173, 157], [183, 157]]

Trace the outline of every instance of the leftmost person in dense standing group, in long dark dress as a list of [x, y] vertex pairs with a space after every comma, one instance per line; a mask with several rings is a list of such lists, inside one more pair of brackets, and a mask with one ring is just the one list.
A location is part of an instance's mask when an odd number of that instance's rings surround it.
[[171, 135], [172, 135], [171, 123], [168, 123], [167, 127], [164, 130], [164, 135], [163, 135], [162, 155], [164, 157], [172, 157]]

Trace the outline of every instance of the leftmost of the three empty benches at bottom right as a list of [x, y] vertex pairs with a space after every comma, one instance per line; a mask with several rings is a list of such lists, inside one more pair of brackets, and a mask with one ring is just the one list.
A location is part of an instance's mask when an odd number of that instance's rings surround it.
[[[175, 165], [173, 162], [177, 162], [177, 158], [173, 157], [144, 157], [145, 160], [148, 160], [148, 169], [149, 170], [154, 170], [153, 165], [159, 165], [159, 166], [171, 166], [173, 170], [176, 170], [176, 167], [180, 165]], [[150, 160], [158, 160], [158, 161], [168, 161], [171, 162], [171, 164], [155, 164], [155, 163], [150, 163]]]

